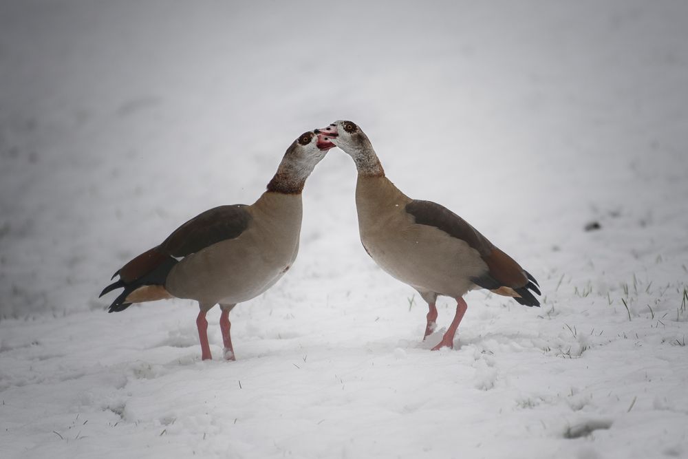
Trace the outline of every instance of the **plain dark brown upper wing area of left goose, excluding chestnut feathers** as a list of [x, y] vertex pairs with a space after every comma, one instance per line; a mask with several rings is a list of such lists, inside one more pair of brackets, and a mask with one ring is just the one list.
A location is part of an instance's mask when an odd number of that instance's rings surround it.
[[159, 249], [173, 257], [186, 257], [246, 231], [251, 215], [245, 204], [219, 206], [197, 215], [177, 228]]

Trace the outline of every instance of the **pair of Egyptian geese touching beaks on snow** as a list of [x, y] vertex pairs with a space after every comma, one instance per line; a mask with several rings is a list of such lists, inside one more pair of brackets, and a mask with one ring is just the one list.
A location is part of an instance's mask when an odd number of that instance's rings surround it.
[[436, 327], [436, 299], [456, 300], [456, 313], [433, 350], [453, 348], [466, 312], [462, 298], [486, 288], [539, 306], [537, 281], [461, 217], [440, 204], [409, 198], [387, 177], [370, 140], [351, 121], [336, 121], [299, 136], [284, 153], [268, 189], [250, 206], [219, 206], [177, 228], [162, 244], [129, 261], [102, 297], [123, 288], [109, 312], [164, 298], [198, 301], [202, 359], [211, 359], [206, 312], [219, 304], [224, 357], [234, 360], [229, 313], [270, 288], [299, 250], [301, 191], [325, 153], [339, 147], [356, 163], [358, 230], [365, 251], [389, 275], [415, 288], [429, 312], [423, 339]]

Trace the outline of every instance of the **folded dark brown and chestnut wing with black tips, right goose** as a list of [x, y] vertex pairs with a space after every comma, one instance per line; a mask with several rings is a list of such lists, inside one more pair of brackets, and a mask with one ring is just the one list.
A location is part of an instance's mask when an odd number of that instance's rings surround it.
[[417, 224], [434, 226], [477, 250], [488, 266], [488, 272], [481, 277], [472, 278], [471, 282], [489, 290], [511, 288], [521, 295], [514, 298], [519, 303], [526, 306], [539, 306], [539, 301], [528, 291], [530, 288], [539, 295], [535, 279], [466, 220], [446, 207], [431, 201], [413, 200], [406, 205], [406, 211], [413, 215]]

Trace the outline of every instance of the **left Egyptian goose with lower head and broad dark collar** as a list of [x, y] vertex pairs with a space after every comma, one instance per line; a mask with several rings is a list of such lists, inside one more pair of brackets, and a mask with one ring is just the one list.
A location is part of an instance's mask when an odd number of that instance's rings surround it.
[[299, 250], [301, 191], [308, 175], [334, 147], [306, 132], [284, 153], [268, 189], [250, 206], [219, 206], [193, 217], [162, 244], [122, 266], [119, 279], [103, 289], [124, 288], [108, 312], [131, 303], [165, 298], [198, 301], [196, 319], [202, 359], [212, 359], [206, 312], [219, 304], [224, 356], [235, 360], [229, 312], [270, 288]]

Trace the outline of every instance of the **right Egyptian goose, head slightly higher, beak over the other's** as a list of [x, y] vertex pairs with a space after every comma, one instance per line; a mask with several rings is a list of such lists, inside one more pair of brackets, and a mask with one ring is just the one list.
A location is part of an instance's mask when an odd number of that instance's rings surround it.
[[358, 231], [365, 251], [389, 275], [415, 288], [429, 312], [423, 339], [436, 327], [436, 299], [456, 300], [456, 314], [433, 350], [453, 348], [456, 329], [466, 312], [462, 298], [474, 288], [540, 306], [537, 281], [506, 253], [444, 206], [418, 201], [399, 191], [387, 177], [370, 140], [351, 121], [315, 129], [356, 163]]

